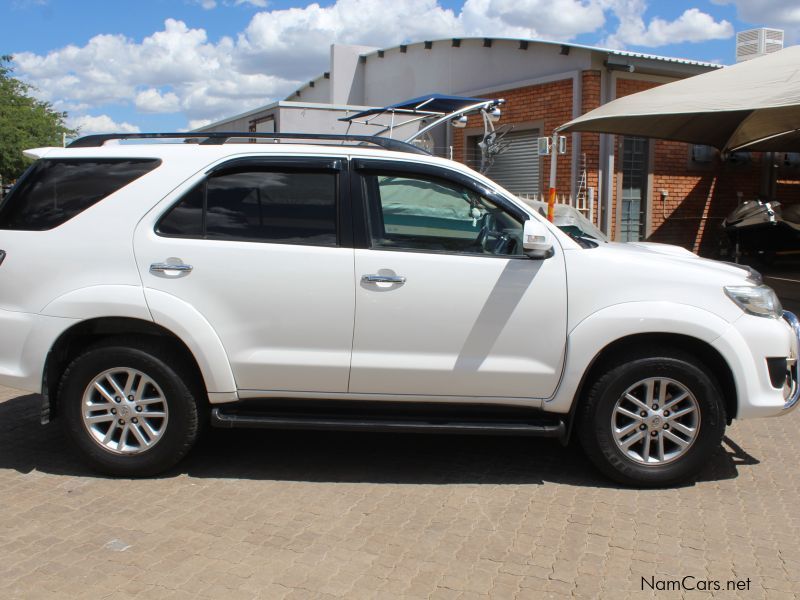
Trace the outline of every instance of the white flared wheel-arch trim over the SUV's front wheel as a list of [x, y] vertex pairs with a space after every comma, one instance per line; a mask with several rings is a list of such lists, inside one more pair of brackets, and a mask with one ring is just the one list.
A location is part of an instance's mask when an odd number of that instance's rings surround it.
[[[567, 340], [567, 360], [556, 393], [544, 409], [569, 412], [584, 374], [613, 342], [643, 333], [669, 333], [712, 344], [731, 324], [695, 306], [673, 302], [625, 302], [606, 307], [577, 323]], [[723, 355], [723, 358], [729, 360]]]

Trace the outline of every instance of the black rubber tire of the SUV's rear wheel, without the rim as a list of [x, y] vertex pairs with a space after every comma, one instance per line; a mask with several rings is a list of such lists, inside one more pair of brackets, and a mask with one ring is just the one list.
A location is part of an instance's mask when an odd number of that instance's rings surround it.
[[[61, 423], [94, 469], [114, 476], [146, 477], [169, 469], [191, 449], [199, 431], [198, 402], [192, 392], [197, 386], [191, 369], [171, 357], [174, 353], [155, 342], [113, 340], [89, 348], [69, 364], [58, 391]], [[161, 437], [137, 454], [105, 448], [83, 421], [84, 392], [95, 377], [117, 368], [136, 369], [150, 377], [161, 388], [168, 409]]]

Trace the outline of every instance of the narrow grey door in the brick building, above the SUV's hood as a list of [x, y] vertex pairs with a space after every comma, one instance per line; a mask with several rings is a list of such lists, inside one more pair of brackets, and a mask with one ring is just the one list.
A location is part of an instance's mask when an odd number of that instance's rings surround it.
[[647, 138], [622, 138], [622, 216], [620, 241], [647, 237]]

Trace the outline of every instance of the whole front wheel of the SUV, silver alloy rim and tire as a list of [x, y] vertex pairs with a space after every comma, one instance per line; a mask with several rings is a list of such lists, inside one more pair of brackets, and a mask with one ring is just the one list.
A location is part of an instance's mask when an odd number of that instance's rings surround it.
[[678, 483], [696, 475], [719, 446], [725, 409], [713, 377], [694, 357], [626, 357], [591, 385], [579, 435], [589, 458], [616, 481]]

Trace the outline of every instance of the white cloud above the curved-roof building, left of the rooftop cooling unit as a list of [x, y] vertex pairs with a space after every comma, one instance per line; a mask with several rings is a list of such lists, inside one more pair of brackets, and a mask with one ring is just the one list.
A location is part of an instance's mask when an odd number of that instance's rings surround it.
[[685, 10], [674, 21], [655, 17], [645, 24], [643, 16], [646, 5], [643, 0], [607, 1], [619, 19], [617, 31], [604, 40], [604, 44], [612, 48], [626, 45], [655, 48], [725, 39], [733, 35], [733, 25], [728, 21], [715, 21], [714, 17], [697, 8]]

